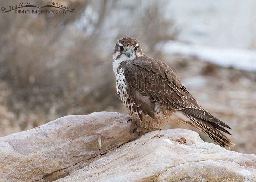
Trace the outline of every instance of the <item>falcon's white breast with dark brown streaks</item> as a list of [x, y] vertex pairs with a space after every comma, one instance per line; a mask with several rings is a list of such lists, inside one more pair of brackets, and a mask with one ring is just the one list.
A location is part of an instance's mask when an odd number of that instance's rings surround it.
[[127, 99], [127, 90], [126, 90], [126, 79], [124, 75], [124, 69], [120, 68], [116, 73], [116, 91], [118, 97], [125, 102]]

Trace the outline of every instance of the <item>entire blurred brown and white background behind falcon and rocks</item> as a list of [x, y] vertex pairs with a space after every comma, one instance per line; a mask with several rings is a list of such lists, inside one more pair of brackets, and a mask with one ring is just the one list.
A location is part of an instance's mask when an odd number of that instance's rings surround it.
[[115, 91], [112, 53], [118, 39], [133, 37], [232, 128], [231, 150], [256, 154], [255, 1], [53, 2], [76, 13], [1, 13], [0, 137], [65, 115], [128, 113]]

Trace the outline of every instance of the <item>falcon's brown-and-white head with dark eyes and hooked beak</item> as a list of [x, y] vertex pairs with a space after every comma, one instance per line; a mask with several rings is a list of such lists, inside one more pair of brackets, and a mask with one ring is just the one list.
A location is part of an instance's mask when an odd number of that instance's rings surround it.
[[118, 61], [131, 61], [144, 55], [139, 41], [130, 37], [125, 37], [117, 41], [113, 54], [113, 59]]

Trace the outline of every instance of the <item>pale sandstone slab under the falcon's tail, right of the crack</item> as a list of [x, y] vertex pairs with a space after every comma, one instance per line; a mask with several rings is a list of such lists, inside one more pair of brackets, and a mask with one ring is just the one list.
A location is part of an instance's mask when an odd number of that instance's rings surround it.
[[240, 154], [203, 142], [185, 129], [149, 132], [108, 152], [68, 181], [256, 181], [256, 155]]

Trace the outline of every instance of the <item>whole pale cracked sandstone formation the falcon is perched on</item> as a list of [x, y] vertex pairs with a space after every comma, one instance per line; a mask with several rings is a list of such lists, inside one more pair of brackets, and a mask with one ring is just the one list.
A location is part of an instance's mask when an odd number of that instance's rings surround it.
[[256, 181], [254, 154], [203, 142], [185, 129], [139, 137], [128, 119], [109, 112], [66, 116], [2, 137], [0, 181]]

